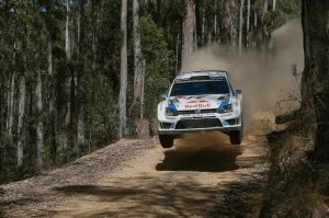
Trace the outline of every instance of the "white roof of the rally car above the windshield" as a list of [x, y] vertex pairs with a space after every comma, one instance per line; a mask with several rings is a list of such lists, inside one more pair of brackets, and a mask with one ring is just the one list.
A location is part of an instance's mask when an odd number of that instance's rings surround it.
[[227, 72], [222, 70], [206, 70], [206, 71], [191, 71], [191, 72], [180, 72], [175, 79], [177, 80], [190, 80], [196, 78], [208, 77], [214, 79], [227, 79]]

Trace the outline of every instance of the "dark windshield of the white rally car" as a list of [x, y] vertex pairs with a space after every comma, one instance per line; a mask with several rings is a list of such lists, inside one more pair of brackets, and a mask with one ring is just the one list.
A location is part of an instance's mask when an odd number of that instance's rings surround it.
[[229, 93], [226, 80], [188, 81], [174, 83], [170, 96]]

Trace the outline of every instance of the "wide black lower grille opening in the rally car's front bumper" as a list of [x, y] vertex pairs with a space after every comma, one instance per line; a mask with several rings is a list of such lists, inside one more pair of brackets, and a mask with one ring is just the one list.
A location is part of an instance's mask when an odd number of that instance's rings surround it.
[[175, 129], [211, 128], [222, 126], [220, 121], [217, 118], [183, 119], [177, 123]]

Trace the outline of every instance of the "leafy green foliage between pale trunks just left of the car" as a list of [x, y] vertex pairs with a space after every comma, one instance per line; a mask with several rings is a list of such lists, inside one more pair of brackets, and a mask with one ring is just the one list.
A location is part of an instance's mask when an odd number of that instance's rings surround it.
[[138, 33], [145, 60], [145, 114], [148, 119], [156, 116], [159, 94], [167, 92], [174, 72], [174, 58], [168, 49], [164, 34], [150, 16], [141, 18]]

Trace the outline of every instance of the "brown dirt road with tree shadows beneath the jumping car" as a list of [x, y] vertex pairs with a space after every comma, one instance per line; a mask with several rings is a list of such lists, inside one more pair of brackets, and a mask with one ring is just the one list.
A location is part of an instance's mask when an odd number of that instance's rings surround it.
[[0, 217], [257, 217], [266, 180], [266, 140], [231, 146], [194, 134], [163, 150], [120, 140], [64, 168], [0, 186]]

